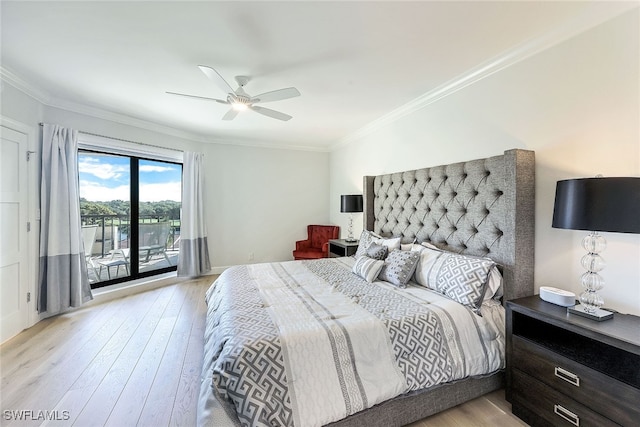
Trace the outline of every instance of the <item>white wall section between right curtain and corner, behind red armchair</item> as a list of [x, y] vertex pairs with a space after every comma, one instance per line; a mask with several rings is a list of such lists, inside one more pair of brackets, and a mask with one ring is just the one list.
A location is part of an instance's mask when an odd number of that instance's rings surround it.
[[328, 153], [214, 144], [202, 150], [210, 165], [214, 265], [291, 260], [307, 225], [329, 220]]

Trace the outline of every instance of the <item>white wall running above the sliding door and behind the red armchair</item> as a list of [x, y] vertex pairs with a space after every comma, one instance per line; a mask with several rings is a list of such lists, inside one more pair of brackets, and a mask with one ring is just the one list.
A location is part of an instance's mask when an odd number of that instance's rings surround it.
[[[293, 259], [306, 226], [327, 223], [329, 154], [194, 141], [43, 105], [3, 83], [1, 114], [32, 126], [78, 130], [182, 150], [206, 162], [207, 227], [214, 272], [236, 264]], [[253, 254], [253, 259], [250, 258]]]

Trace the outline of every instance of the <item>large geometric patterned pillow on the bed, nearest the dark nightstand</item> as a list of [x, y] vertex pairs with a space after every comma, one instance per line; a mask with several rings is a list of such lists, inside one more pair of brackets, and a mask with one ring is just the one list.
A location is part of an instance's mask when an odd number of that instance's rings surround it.
[[416, 282], [478, 311], [495, 262], [487, 258], [425, 248], [420, 252]]

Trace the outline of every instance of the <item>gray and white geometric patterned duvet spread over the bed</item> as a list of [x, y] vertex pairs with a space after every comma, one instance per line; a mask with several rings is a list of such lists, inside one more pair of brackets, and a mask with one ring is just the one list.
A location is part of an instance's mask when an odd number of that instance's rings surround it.
[[[227, 269], [206, 296], [201, 402], [215, 400], [244, 426], [320, 426], [503, 368], [498, 303], [478, 316], [417, 285], [367, 283], [352, 265], [327, 258]], [[199, 407], [199, 424], [214, 425], [211, 414]]]

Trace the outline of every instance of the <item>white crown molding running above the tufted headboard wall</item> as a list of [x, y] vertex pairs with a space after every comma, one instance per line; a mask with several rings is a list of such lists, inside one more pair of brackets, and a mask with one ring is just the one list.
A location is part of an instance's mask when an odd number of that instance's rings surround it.
[[565, 22], [564, 25], [542, 34], [539, 37], [526, 40], [525, 42], [502, 52], [498, 56], [443, 83], [442, 85], [437, 86], [403, 106], [396, 108], [390, 113], [370, 122], [357, 131], [340, 139], [336, 144], [333, 144], [329, 148], [329, 151], [338, 150], [351, 142], [371, 135], [391, 123], [413, 114], [416, 111], [439, 101], [440, 99], [446, 98], [467, 86], [475, 84], [533, 55], [550, 49], [551, 47], [584, 33], [591, 28], [603, 24], [604, 22], [610, 21], [625, 12], [638, 8], [639, 6], [637, 2], [629, 2], [621, 5], [615, 11], [603, 15], [603, 10], [600, 8], [600, 5], [593, 5], [585, 10], [581, 15]]

